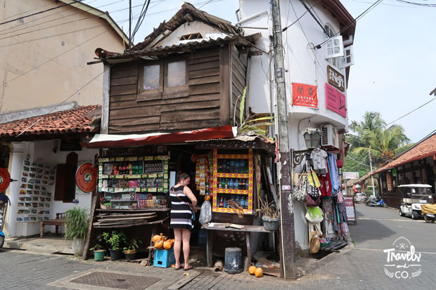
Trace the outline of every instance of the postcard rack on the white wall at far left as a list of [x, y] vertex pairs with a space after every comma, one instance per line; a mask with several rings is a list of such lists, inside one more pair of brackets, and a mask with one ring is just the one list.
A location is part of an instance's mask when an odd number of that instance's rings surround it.
[[16, 221], [40, 222], [50, 219], [56, 166], [38, 162], [23, 164]]

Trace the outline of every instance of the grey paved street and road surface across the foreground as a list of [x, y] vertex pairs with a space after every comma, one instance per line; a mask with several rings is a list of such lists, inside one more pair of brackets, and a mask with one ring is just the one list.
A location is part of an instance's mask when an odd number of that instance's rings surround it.
[[[86, 286], [71, 282], [96, 271], [111, 272], [113, 276], [124, 273], [160, 279], [150, 289], [177, 289], [178, 281], [188, 282], [181, 289], [435, 289], [436, 224], [399, 217], [398, 211], [392, 209], [369, 208], [360, 204], [357, 205], [357, 217], [357, 225], [350, 225], [355, 249], [323, 258], [314, 263], [306, 276], [292, 282], [199, 269], [184, 276], [183, 271], [172, 268], [143, 268], [132, 263], [110, 261], [81, 262], [70, 256], [0, 250], [0, 289], [101, 289], [96, 287], [98, 284]], [[422, 272], [418, 277], [388, 277], [384, 272], [387, 254], [383, 249], [392, 248], [392, 243], [399, 237], [409, 239], [422, 255]], [[124, 283], [123, 279], [119, 280]]]

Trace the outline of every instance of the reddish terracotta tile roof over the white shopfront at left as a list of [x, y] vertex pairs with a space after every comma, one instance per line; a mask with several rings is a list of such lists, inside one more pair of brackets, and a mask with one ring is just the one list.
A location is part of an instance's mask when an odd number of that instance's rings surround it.
[[18, 136], [27, 128], [21, 136], [87, 133], [91, 132], [91, 122], [95, 116], [101, 116], [101, 105], [76, 107], [72, 110], [11, 121], [0, 124], [0, 139]]

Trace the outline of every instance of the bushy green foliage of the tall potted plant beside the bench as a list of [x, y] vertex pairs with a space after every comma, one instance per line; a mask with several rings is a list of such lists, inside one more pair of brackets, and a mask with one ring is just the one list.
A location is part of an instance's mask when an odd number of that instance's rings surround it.
[[88, 228], [88, 209], [73, 207], [65, 211], [65, 239], [86, 239]]

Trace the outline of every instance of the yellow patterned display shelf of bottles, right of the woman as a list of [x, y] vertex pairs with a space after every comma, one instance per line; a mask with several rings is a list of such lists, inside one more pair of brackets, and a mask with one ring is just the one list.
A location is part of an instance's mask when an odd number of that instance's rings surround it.
[[253, 155], [218, 154], [213, 151], [213, 204], [212, 211], [237, 213], [228, 201], [232, 199], [240, 204], [243, 213], [253, 211]]

